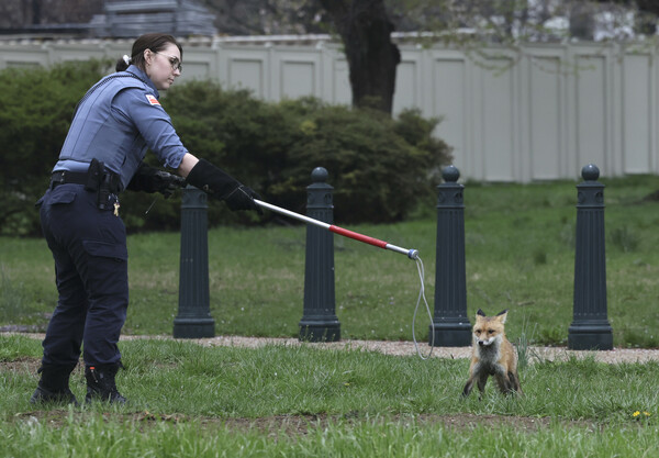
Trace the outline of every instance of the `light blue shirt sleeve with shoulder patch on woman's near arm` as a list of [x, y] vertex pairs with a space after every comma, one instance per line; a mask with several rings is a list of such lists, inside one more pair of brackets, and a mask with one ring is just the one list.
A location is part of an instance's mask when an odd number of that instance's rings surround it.
[[114, 98], [113, 108], [133, 122], [160, 164], [172, 169], [179, 167], [188, 150], [176, 133], [171, 119], [153, 94], [127, 88]]

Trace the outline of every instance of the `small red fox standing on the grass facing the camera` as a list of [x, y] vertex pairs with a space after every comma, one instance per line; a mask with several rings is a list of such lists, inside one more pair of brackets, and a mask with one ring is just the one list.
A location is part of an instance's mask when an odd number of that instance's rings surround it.
[[522, 393], [520, 376], [517, 375], [517, 354], [513, 344], [505, 338], [503, 324], [507, 316], [504, 310], [496, 316], [485, 316], [482, 310], [476, 314], [473, 325], [473, 347], [471, 350], [471, 366], [469, 380], [465, 384], [462, 395], [468, 396], [478, 384], [480, 394], [485, 391], [485, 383], [490, 376], [494, 376], [502, 393]]

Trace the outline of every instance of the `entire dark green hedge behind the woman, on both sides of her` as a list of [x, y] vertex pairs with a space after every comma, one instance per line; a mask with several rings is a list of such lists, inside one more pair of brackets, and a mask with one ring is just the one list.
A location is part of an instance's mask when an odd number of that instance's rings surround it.
[[[32, 203], [44, 192], [76, 103], [108, 70], [99, 62], [49, 70], [0, 72], [0, 233], [38, 234]], [[304, 212], [311, 171], [319, 166], [334, 187], [340, 223], [403, 220], [434, 192], [438, 170], [450, 161], [433, 137], [438, 120], [415, 110], [398, 119], [371, 110], [328, 105], [313, 98], [279, 103], [210, 81], [174, 87], [161, 100], [186, 147], [254, 188], [264, 200]], [[147, 163], [157, 165], [155, 155]], [[124, 192], [129, 231], [178, 228], [180, 196], [169, 200]], [[145, 211], [159, 199], [149, 210]], [[210, 225], [259, 221], [211, 202]]]

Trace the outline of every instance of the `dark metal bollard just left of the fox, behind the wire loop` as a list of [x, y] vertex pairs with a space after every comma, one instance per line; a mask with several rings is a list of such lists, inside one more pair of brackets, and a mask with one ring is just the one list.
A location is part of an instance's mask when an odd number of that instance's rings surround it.
[[[437, 187], [437, 255], [435, 270], [436, 347], [471, 345], [471, 323], [467, 317], [467, 273], [465, 267], [465, 187], [460, 171], [445, 167], [445, 182]], [[433, 344], [431, 326], [429, 345]]]

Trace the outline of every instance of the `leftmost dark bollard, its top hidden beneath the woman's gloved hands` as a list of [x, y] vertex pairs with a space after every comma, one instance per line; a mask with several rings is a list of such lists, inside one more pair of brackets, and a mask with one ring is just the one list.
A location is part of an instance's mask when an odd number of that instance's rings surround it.
[[206, 193], [188, 186], [181, 203], [179, 310], [174, 336], [215, 336], [209, 299], [209, 238]]

